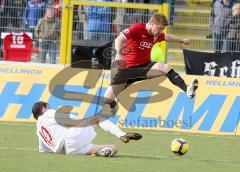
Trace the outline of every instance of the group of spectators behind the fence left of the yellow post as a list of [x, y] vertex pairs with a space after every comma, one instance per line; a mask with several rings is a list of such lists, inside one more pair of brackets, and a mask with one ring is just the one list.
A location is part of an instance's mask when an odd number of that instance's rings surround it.
[[31, 32], [40, 49], [39, 61], [45, 63], [49, 52], [49, 62], [56, 63], [61, 4], [61, 0], [0, 0], [0, 33]]

